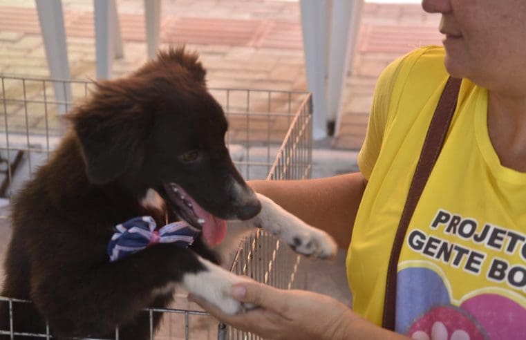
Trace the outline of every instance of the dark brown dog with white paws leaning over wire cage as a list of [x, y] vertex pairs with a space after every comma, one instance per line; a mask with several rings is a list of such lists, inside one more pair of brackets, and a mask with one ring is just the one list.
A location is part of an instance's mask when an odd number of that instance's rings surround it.
[[[176, 284], [239, 312], [226, 292], [244, 278], [214, 264], [209, 248], [225, 220], [263, 227], [301, 254], [335, 254], [328, 234], [254, 193], [236, 171], [197, 55], [170, 49], [129, 77], [100, 82], [68, 119], [73, 129], [13, 205], [2, 295], [33, 301], [14, 305], [15, 332], [45, 333], [46, 320], [55, 337], [111, 337], [119, 327], [121, 339], [147, 339], [142, 310], [167, 306]], [[158, 226], [183, 220], [200, 236], [110, 261], [115, 226], [137, 216]], [[7, 303], [0, 317], [9, 330]]]

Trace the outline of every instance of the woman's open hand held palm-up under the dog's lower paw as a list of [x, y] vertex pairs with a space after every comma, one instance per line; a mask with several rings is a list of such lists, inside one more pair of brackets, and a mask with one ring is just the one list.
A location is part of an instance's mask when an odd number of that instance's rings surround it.
[[339, 301], [303, 290], [279, 290], [254, 282], [234, 285], [231, 294], [259, 307], [228, 315], [197, 296], [190, 299], [219, 320], [265, 339], [349, 339], [350, 325], [361, 319]]

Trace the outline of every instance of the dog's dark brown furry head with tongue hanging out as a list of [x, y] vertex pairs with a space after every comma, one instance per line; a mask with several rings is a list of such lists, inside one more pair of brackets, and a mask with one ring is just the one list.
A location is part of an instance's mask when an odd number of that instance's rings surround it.
[[98, 82], [70, 118], [95, 185], [118, 182], [139, 199], [154, 189], [197, 228], [261, 209], [230, 159], [227, 120], [196, 54], [170, 49], [127, 78]]

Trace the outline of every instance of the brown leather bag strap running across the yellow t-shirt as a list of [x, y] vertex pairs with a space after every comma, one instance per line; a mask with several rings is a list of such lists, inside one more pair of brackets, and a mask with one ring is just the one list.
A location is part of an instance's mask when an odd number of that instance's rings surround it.
[[460, 90], [460, 83], [462, 79], [449, 77], [447, 80], [444, 91], [438, 105], [429, 124], [427, 130], [426, 139], [424, 140], [424, 146], [420, 153], [420, 158], [413, 175], [411, 187], [407, 195], [406, 205], [402, 211], [402, 217], [400, 218], [400, 224], [395, 235], [395, 241], [393, 243], [393, 249], [391, 250], [391, 258], [389, 258], [389, 265], [387, 269], [387, 283], [386, 283], [386, 295], [384, 300], [384, 319], [382, 327], [388, 330], [395, 330], [395, 308], [396, 308], [396, 278], [397, 278], [397, 267], [398, 259], [400, 258], [400, 252], [402, 250], [402, 244], [406, 236], [406, 231], [415, 211], [420, 195], [424, 191], [426, 182], [431, 175], [431, 170], [442, 150], [444, 139], [446, 138], [449, 125], [451, 124], [451, 118], [455, 113], [455, 108], [458, 99], [458, 92]]

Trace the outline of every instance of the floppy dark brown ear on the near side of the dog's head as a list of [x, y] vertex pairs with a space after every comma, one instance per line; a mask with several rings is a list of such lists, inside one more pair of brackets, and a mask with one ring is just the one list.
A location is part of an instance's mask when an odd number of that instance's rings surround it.
[[80, 142], [86, 174], [97, 185], [122, 176], [144, 153], [151, 117], [125, 82], [96, 83], [91, 100], [68, 114]]

